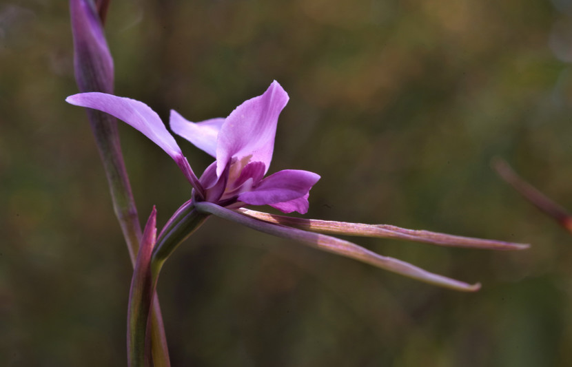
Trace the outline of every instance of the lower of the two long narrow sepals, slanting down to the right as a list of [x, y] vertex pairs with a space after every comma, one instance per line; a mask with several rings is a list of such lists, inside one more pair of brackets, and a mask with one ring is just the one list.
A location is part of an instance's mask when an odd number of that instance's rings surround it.
[[480, 289], [480, 284], [478, 283], [467, 284], [465, 282], [453, 280], [449, 277], [430, 273], [429, 271], [420, 269], [417, 266], [408, 264], [407, 262], [378, 255], [377, 253], [359, 247], [357, 244], [346, 240], [340, 240], [339, 238], [331, 237], [329, 235], [303, 231], [301, 229], [265, 222], [263, 220], [245, 216], [242, 213], [238, 213], [230, 209], [219, 207], [218, 205], [212, 204], [210, 202], [197, 202], [195, 207], [198, 209], [198, 211], [203, 213], [210, 213], [227, 220], [232, 220], [233, 222], [243, 224], [246, 227], [256, 229], [256, 231], [261, 231], [270, 235], [276, 235], [277, 237], [287, 238], [289, 240], [303, 242], [308, 244], [310, 247], [314, 247], [316, 249], [330, 253], [336, 253], [338, 255], [345, 256], [346, 258], [351, 258], [360, 262], [365, 262], [366, 264], [376, 266], [380, 269], [385, 269], [400, 275], [405, 275], [406, 277], [411, 277], [422, 282], [427, 282], [437, 286], [443, 286], [445, 288], [454, 289], [456, 291], [478, 291], [478, 289]]

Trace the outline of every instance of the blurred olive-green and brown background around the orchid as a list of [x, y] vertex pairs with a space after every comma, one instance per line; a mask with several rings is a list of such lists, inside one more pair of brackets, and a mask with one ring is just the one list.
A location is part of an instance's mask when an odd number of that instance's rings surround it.
[[[0, 3], [0, 364], [125, 366], [130, 262], [76, 93], [68, 4]], [[290, 96], [271, 171], [315, 171], [308, 218], [517, 242], [358, 244], [447, 291], [212, 218], [159, 282], [174, 366], [571, 366], [572, 237], [493, 156], [572, 208], [572, 1], [112, 1], [116, 94], [163, 118]], [[141, 218], [189, 198], [121, 125]], [[195, 171], [211, 158], [178, 140]], [[267, 209], [267, 208], [266, 208]]]

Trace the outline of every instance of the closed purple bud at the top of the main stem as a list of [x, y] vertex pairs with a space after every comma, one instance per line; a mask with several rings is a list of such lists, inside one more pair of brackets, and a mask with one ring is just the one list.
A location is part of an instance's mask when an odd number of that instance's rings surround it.
[[91, 0], [70, 0], [70, 15], [79, 90], [113, 93], [113, 59], [95, 4]]

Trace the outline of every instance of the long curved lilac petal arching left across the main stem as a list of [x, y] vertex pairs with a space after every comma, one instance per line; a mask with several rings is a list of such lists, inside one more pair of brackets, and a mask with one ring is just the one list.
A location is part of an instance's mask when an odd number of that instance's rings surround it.
[[187, 177], [187, 180], [199, 191], [201, 196], [203, 195], [203, 189], [201, 185], [198, 185], [198, 180], [189, 162], [187, 162], [187, 159], [183, 156], [181, 148], [178, 147], [173, 136], [167, 131], [165, 125], [163, 125], [159, 115], [156, 114], [151, 107], [131, 98], [118, 97], [99, 92], [74, 94], [73, 96], [65, 98], [65, 101], [72, 105], [89, 107], [106, 112], [139, 130], [139, 132], [147, 136], [147, 138], [150, 138], [153, 143], [159, 145], [161, 149], [174, 159], [178, 167], [183, 171], [183, 174]]

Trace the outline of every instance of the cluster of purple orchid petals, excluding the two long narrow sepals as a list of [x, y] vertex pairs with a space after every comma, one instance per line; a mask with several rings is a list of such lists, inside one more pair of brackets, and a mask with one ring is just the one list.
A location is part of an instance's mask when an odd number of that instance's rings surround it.
[[288, 102], [288, 94], [276, 81], [261, 96], [236, 107], [227, 118], [192, 123], [171, 111], [173, 131], [216, 158], [200, 179], [159, 115], [144, 103], [97, 92], [75, 94], [65, 101], [107, 112], [150, 138], [175, 160], [191, 182], [196, 202], [235, 209], [270, 205], [284, 213], [308, 211], [309, 191], [320, 176], [285, 169], [264, 178], [272, 160], [278, 116]]

